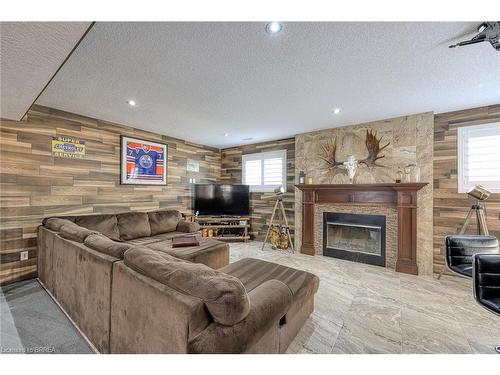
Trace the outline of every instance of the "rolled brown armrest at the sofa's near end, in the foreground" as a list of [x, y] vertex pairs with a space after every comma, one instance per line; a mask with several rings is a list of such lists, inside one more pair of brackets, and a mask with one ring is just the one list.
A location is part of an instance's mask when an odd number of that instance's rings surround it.
[[292, 303], [290, 288], [268, 280], [250, 293], [250, 312], [233, 326], [210, 324], [188, 344], [189, 353], [245, 353], [274, 326], [278, 329]]

